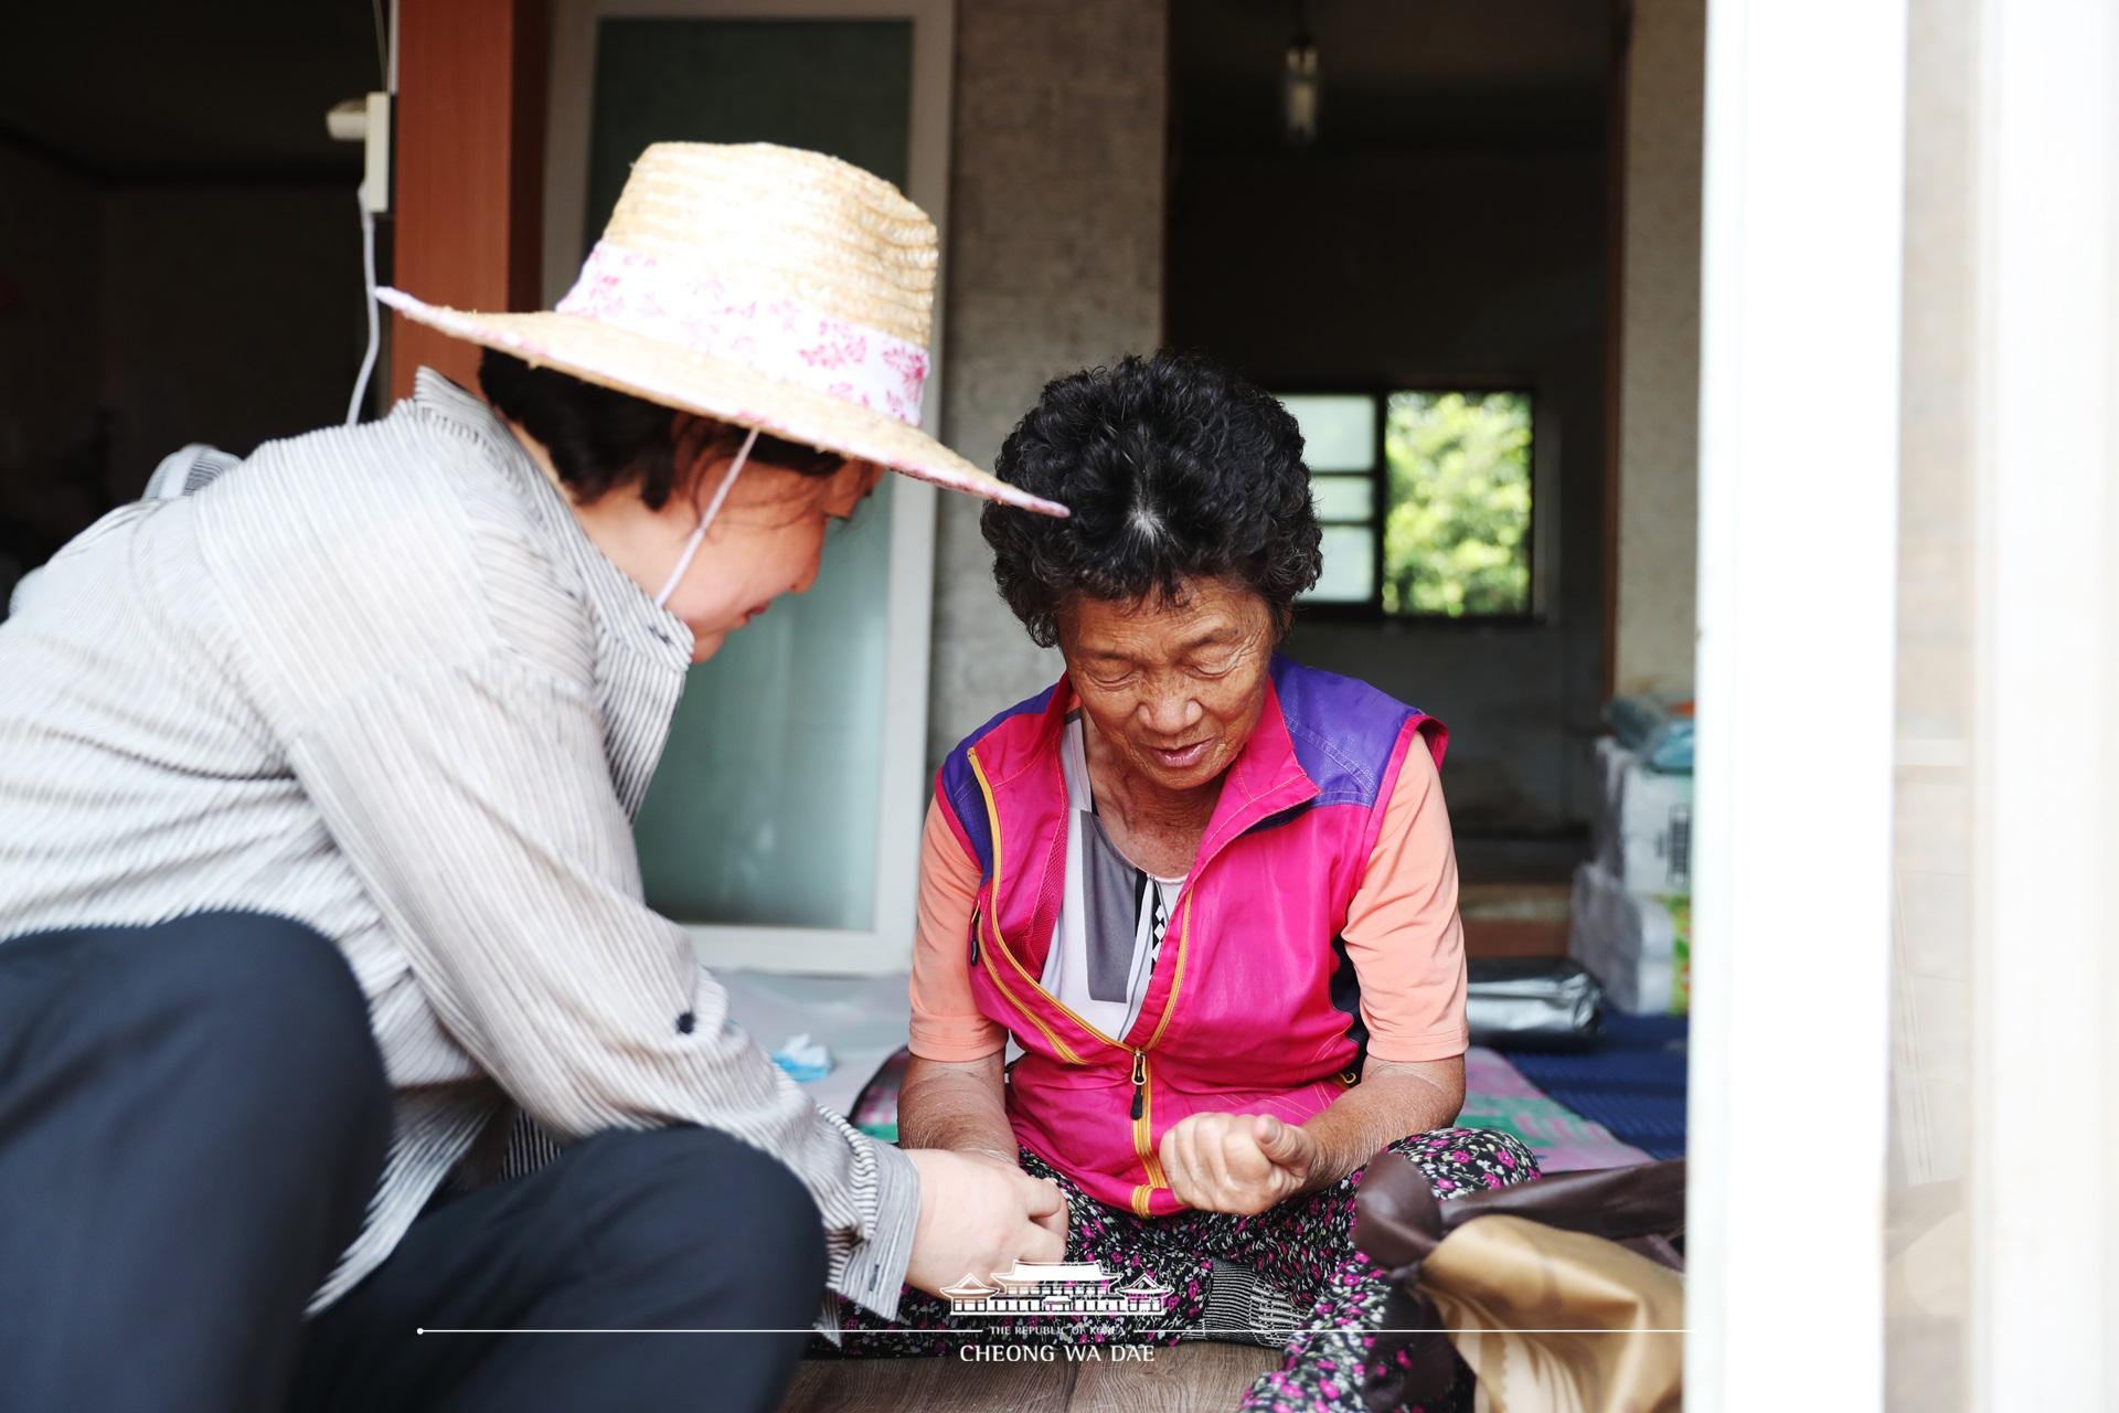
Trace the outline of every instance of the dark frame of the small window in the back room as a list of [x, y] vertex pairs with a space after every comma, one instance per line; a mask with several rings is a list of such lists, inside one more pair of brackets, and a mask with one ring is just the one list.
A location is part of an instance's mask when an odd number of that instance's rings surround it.
[[[1295, 621], [1297, 623], [1358, 623], [1367, 627], [1388, 627], [1394, 631], [1409, 629], [1490, 629], [1490, 627], [1543, 627], [1547, 621], [1545, 612], [1545, 583], [1551, 574], [1551, 566], [1538, 549], [1538, 506], [1545, 502], [1545, 439], [1547, 439], [1547, 415], [1545, 400], [1538, 394], [1538, 383], [1532, 377], [1511, 377], [1496, 373], [1481, 375], [1454, 375], [1454, 377], [1390, 377], [1390, 379], [1274, 379], [1267, 383], [1276, 398], [1280, 396], [1358, 396], [1369, 398], [1375, 405], [1375, 464], [1369, 468], [1369, 483], [1375, 487], [1375, 517], [1371, 519], [1369, 534], [1369, 600], [1363, 604], [1352, 602], [1318, 602], [1318, 600], [1297, 600]], [[1384, 608], [1384, 521], [1390, 515], [1390, 464], [1384, 455], [1384, 432], [1390, 426], [1390, 396], [1396, 392], [1464, 392], [1464, 394], [1488, 394], [1488, 392], [1517, 392], [1530, 398], [1530, 527], [1524, 534], [1524, 559], [1530, 568], [1530, 587], [1526, 593], [1528, 608], [1521, 612], [1466, 612], [1466, 614], [1435, 614], [1435, 612], [1388, 612]], [[1318, 477], [1358, 477], [1358, 470], [1312, 470], [1312, 483]], [[1333, 521], [1339, 525], [1352, 521]], [[1320, 521], [1322, 525], [1322, 521]]]

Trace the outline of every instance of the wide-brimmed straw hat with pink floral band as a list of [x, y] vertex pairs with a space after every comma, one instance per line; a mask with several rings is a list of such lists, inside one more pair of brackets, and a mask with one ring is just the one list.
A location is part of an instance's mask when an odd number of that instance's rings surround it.
[[657, 142], [555, 311], [377, 297], [604, 388], [1066, 515], [920, 430], [934, 258], [926, 212], [860, 167], [763, 142]]

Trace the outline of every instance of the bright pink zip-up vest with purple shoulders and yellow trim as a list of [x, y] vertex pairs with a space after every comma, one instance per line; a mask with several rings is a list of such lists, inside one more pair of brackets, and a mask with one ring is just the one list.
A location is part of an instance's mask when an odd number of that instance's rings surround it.
[[1195, 1112], [1303, 1123], [1360, 1078], [1367, 1027], [1339, 938], [1384, 805], [1443, 725], [1365, 682], [1276, 657], [1178, 894], [1140, 1017], [1106, 1036], [1038, 985], [1066, 883], [1062, 680], [971, 733], [934, 790], [979, 862], [971, 985], [1023, 1057], [1015, 1138], [1102, 1203], [1178, 1210], [1155, 1148]]

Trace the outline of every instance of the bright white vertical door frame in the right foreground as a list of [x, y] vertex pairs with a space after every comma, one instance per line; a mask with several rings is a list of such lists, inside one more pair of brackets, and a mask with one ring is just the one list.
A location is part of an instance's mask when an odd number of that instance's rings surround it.
[[1708, 6], [1693, 1409], [1884, 1396], [1905, 53], [1905, 0]]

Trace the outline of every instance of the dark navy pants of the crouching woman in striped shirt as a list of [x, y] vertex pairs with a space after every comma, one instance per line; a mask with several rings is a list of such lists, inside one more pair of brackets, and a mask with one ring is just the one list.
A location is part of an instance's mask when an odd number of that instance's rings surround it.
[[430, 1203], [305, 1322], [388, 1135], [360, 989], [299, 924], [201, 913], [0, 943], [0, 1407], [778, 1405], [805, 1337], [756, 1330], [816, 1318], [816, 1205], [708, 1129], [602, 1133]]

